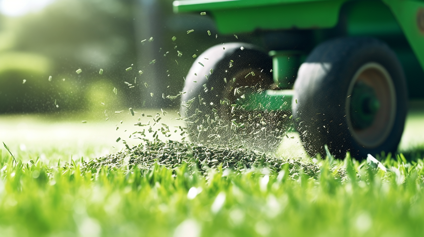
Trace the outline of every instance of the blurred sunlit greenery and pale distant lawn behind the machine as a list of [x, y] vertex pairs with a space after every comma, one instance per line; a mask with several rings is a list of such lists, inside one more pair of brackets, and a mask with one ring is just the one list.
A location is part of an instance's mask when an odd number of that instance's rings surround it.
[[[168, 123], [184, 126], [175, 120], [179, 98], [170, 98], [182, 90], [192, 55], [257, 43], [254, 34], [220, 35], [209, 16], [173, 14], [172, 0], [0, 0], [0, 14], [0, 141], [17, 152], [116, 152], [139, 143], [129, 137], [142, 113], [161, 109]], [[413, 114], [404, 149], [424, 143], [422, 115]], [[280, 150], [303, 151], [296, 139]]]

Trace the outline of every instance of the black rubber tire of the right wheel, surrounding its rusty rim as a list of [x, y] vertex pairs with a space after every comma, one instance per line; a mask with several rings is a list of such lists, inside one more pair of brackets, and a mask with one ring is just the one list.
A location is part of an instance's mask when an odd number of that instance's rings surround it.
[[[393, 122], [374, 117], [370, 130], [379, 123], [387, 126], [381, 130], [384, 133], [370, 134], [377, 136], [370, 143], [364, 142], [366, 137], [358, 138], [357, 133], [362, 130], [352, 128], [348, 108], [351, 105], [349, 88], [363, 65], [380, 65], [384, 68], [381, 70], [390, 75], [390, 78], [385, 77], [390, 79], [385, 79], [387, 84], [393, 85], [389, 86], [393, 93], [388, 109]], [[294, 90], [293, 117], [303, 146], [311, 157], [316, 154], [324, 157], [325, 144], [331, 154], [342, 159], [347, 151], [357, 159], [382, 151], [396, 152], [407, 113], [407, 85], [399, 60], [385, 43], [369, 37], [346, 37], [318, 45], [299, 68]]]

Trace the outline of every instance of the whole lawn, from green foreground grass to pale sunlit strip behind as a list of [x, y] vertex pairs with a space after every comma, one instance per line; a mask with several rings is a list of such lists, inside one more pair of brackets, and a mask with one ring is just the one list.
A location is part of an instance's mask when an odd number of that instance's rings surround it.
[[[153, 118], [156, 114], [138, 112]], [[173, 119], [176, 114], [168, 112], [161, 122], [180, 126], [181, 121]], [[275, 156], [178, 141], [148, 143], [107, 156], [125, 148], [122, 140], [130, 146], [141, 141], [128, 138], [140, 130], [133, 125], [138, 117], [117, 114], [103, 121], [80, 115], [61, 120], [46, 115], [1, 116], [0, 138], [17, 163], [2, 147], [0, 235], [417, 236], [424, 232], [424, 111], [419, 104], [408, 115], [399, 149], [406, 158], [382, 157], [380, 165], [350, 158], [310, 159], [294, 134]], [[121, 141], [116, 142], [118, 137]]]

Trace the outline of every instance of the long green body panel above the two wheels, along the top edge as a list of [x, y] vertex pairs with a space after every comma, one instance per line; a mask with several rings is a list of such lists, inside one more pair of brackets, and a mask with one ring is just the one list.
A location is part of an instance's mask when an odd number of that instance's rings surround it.
[[209, 11], [224, 34], [256, 29], [330, 28], [346, 0], [181, 0], [174, 12]]

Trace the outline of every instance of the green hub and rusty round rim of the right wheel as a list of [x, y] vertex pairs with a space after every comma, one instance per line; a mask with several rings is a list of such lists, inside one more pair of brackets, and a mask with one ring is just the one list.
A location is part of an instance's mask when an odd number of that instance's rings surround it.
[[346, 120], [355, 140], [366, 148], [379, 146], [391, 132], [396, 117], [392, 78], [378, 63], [357, 70], [346, 99]]

